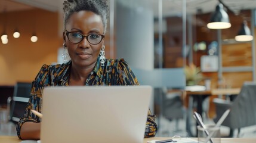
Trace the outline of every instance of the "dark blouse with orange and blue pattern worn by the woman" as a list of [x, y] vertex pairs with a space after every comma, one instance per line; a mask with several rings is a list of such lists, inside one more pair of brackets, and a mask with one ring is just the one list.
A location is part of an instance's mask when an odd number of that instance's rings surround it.
[[[32, 82], [31, 96], [24, 117], [20, 118], [16, 126], [18, 138], [21, 139], [20, 129], [24, 122], [41, 122], [41, 119], [32, 114], [30, 110], [33, 109], [41, 113], [42, 89], [45, 86], [69, 86], [71, 66], [71, 61], [55, 66], [42, 66]], [[94, 70], [91, 71], [85, 82], [85, 86], [87, 85], [139, 85], [139, 83], [123, 58], [120, 60], [106, 60], [104, 66], [100, 65], [98, 58]], [[149, 110], [144, 138], [155, 136], [156, 131], [155, 115], [152, 115]]]

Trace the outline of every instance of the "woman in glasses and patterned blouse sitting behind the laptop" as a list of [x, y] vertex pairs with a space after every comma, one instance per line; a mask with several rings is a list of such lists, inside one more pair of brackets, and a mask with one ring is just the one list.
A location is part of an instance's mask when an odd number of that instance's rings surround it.
[[[41, 119], [30, 110], [41, 112], [42, 89], [45, 86], [139, 85], [124, 59], [106, 60], [104, 57], [104, 34], [109, 13], [107, 2], [68, 0], [63, 5], [63, 46], [71, 60], [61, 65], [42, 66], [32, 82], [31, 96], [24, 117], [17, 124], [17, 135], [20, 139], [40, 138]], [[149, 110], [144, 137], [155, 134], [155, 116]]]

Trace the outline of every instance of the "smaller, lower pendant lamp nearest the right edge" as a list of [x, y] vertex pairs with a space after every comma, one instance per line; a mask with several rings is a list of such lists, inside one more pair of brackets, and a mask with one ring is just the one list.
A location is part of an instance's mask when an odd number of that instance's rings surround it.
[[254, 37], [251, 35], [251, 31], [247, 25], [247, 21], [243, 21], [238, 35], [235, 36], [235, 40], [239, 42], [252, 41]]

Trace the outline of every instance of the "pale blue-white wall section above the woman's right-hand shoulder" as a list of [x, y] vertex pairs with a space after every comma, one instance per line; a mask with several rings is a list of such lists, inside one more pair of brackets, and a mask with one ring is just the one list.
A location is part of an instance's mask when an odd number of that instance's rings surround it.
[[154, 68], [153, 11], [146, 5], [116, 3], [116, 57], [125, 58], [129, 66], [137, 69]]

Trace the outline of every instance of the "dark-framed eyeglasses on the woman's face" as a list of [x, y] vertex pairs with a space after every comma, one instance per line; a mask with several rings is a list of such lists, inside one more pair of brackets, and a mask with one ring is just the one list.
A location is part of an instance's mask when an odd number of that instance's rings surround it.
[[79, 32], [68, 32], [67, 30], [66, 30], [66, 35], [67, 35], [67, 39], [69, 39], [69, 41], [72, 43], [79, 43], [84, 38], [86, 38], [87, 41], [92, 45], [97, 45], [105, 37], [104, 35], [97, 34], [97, 33], [91, 33], [87, 36], [84, 36]]

